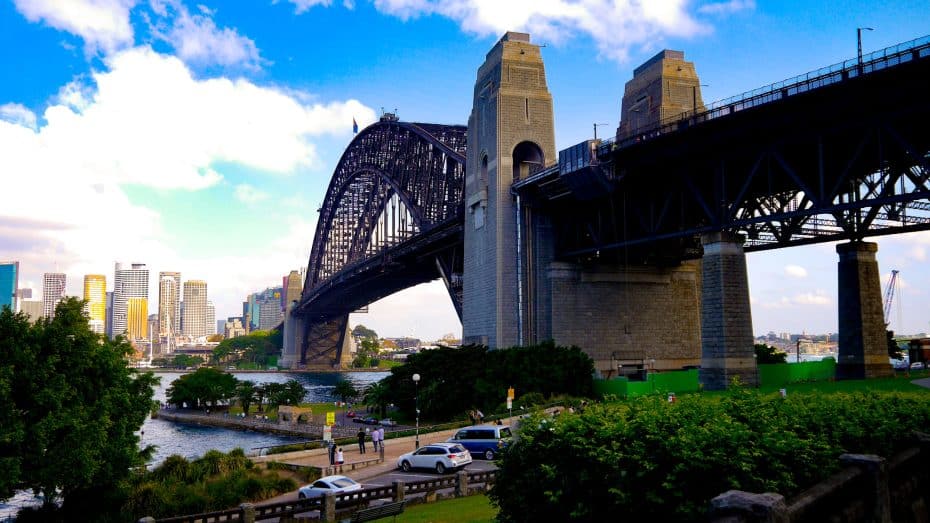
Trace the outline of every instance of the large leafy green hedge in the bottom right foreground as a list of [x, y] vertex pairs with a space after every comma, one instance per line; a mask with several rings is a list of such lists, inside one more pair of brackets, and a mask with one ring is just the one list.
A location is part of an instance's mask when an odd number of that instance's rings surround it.
[[[930, 394], [642, 397], [524, 420], [498, 462], [499, 521], [699, 521], [727, 490], [791, 496], [844, 452], [890, 456], [930, 426]], [[527, 474], [532, 470], [532, 474]]]

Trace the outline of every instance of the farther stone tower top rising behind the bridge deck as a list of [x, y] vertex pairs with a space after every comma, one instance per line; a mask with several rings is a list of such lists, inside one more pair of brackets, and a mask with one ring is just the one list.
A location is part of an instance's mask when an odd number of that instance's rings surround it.
[[625, 138], [666, 118], [703, 110], [701, 80], [685, 53], [666, 49], [633, 70], [620, 107], [617, 137]]

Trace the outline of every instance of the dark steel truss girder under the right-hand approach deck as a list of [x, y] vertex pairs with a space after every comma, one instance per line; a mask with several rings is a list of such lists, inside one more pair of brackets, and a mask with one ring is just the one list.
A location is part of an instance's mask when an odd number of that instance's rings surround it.
[[714, 231], [754, 251], [928, 230], [928, 75], [924, 58], [617, 150], [594, 205], [536, 195], [565, 218], [558, 256], [673, 264]]

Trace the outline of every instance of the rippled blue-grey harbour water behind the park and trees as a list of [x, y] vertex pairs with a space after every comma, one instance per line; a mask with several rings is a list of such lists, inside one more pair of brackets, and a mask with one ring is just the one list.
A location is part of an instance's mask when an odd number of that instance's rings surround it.
[[[332, 391], [336, 383], [341, 380], [351, 382], [356, 390], [362, 391], [370, 383], [387, 377], [389, 372], [244, 372], [236, 373], [239, 380], [249, 380], [256, 385], [262, 383], [284, 383], [295, 379], [300, 381], [307, 389], [305, 401], [326, 402], [335, 401]], [[182, 374], [176, 372], [156, 372], [161, 383], [155, 388], [154, 399], [165, 402], [168, 387], [171, 382]], [[189, 425], [186, 423], [173, 423], [170, 421], [148, 418], [139, 432], [141, 445], [155, 445], [156, 450], [149, 466], [156, 466], [172, 454], [180, 454], [188, 459], [202, 456], [211, 449], [229, 452], [234, 448], [241, 448], [248, 453], [258, 447], [284, 445], [299, 438], [277, 436], [248, 430], [231, 430], [219, 427], [205, 427]], [[5, 502], [0, 502], [0, 522], [11, 520], [16, 512], [24, 506], [40, 504], [41, 500], [32, 496], [31, 492], [20, 491], [16, 496]]]

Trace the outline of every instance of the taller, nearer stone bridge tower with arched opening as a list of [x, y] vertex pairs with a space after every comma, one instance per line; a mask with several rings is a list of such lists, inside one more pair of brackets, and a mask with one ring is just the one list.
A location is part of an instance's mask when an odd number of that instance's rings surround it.
[[[552, 95], [539, 46], [508, 32], [478, 69], [468, 118], [463, 342], [525, 341], [527, 288], [511, 184], [555, 163]], [[522, 229], [522, 227], [521, 227]], [[522, 329], [522, 330], [521, 330]]]

